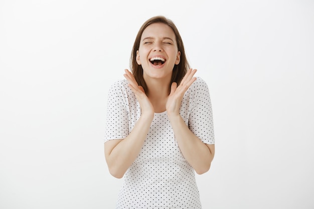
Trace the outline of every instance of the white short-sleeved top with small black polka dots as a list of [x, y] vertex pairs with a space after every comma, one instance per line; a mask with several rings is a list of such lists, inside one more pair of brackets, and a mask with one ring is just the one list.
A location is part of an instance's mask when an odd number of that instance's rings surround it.
[[[140, 116], [126, 80], [108, 94], [105, 141], [125, 138]], [[204, 143], [214, 144], [208, 86], [197, 77], [184, 95], [180, 114]], [[124, 174], [116, 208], [202, 208], [195, 171], [182, 155], [167, 112], [155, 113], [144, 145]]]

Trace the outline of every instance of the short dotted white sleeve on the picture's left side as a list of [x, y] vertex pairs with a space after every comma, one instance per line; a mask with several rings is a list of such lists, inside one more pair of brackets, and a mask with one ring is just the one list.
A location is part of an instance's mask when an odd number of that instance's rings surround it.
[[129, 134], [125, 87], [121, 81], [114, 82], [108, 91], [104, 142], [123, 139]]

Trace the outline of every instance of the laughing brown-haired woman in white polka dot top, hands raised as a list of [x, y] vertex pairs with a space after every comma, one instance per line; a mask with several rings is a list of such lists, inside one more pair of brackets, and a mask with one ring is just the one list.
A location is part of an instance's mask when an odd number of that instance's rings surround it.
[[212, 107], [171, 20], [142, 25], [130, 67], [108, 94], [105, 159], [124, 176], [116, 208], [201, 208], [195, 171], [214, 158]]

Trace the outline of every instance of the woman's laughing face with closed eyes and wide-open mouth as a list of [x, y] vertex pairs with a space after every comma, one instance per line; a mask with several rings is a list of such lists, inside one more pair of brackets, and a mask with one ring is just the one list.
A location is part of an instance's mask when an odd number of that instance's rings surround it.
[[166, 24], [149, 25], [140, 39], [136, 62], [143, 68], [143, 77], [171, 79], [174, 65], [180, 62], [176, 36]]

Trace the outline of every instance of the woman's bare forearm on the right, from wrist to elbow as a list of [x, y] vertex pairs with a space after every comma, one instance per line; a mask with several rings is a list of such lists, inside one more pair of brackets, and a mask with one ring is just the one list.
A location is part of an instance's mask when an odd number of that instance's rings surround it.
[[214, 151], [191, 132], [180, 115], [169, 119], [183, 156], [197, 173], [207, 172], [214, 158]]

